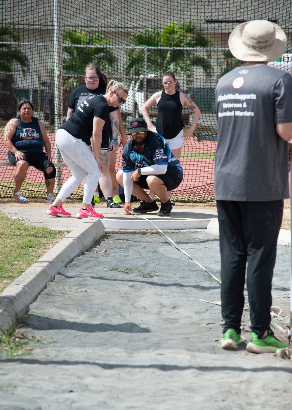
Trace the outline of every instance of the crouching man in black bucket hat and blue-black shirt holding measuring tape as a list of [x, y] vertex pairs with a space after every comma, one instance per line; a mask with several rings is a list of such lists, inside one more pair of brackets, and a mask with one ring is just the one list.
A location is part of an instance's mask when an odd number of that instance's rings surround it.
[[131, 214], [131, 194], [142, 202], [134, 208], [135, 214], [158, 210], [156, 200], [144, 191], [150, 189], [161, 200], [158, 216], [169, 216], [172, 205], [167, 191], [177, 188], [183, 179], [181, 163], [174, 157], [165, 139], [149, 131], [143, 118], [134, 118], [130, 123], [131, 139], [123, 149], [123, 169], [117, 180], [124, 188], [124, 211]]

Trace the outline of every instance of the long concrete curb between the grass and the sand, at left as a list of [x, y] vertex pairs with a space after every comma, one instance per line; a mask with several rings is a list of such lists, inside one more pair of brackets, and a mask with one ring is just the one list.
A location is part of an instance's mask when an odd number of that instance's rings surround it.
[[104, 233], [100, 220], [86, 219], [7, 286], [0, 294], [0, 329], [11, 328], [59, 270], [86, 251]]

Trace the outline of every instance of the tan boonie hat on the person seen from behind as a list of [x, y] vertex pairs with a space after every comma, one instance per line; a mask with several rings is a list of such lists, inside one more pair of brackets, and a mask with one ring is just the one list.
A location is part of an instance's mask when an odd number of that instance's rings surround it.
[[242, 61], [273, 61], [286, 48], [287, 36], [283, 30], [267, 20], [247, 21], [235, 27], [228, 45], [232, 55]]

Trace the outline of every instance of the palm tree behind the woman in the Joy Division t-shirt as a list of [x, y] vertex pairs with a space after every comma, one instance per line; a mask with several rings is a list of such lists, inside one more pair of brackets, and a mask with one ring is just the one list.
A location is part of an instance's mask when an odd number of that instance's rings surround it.
[[[63, 58], [65, 74], [82, 75], [84, 67], [89, 63], [96, 63], [102, 71], [115, 70], [117, 59], [113, 52], [106, 47], [111, 43], [103, 33], [88, 34], [87, 30], [67, 30], [63, 35], [63, 42], [81, 46], [104, 46], [102, 48], [64, 46], [63, 52], [67, 55]], [[65, 88], [72, 90], [83, 82], [81, 78], [70, 78], [66, 81]]]

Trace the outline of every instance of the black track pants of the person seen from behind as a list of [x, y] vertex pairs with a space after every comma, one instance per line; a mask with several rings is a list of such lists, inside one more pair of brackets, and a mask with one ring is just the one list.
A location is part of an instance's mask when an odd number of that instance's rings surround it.
[[271, 321], [272, 278], [283, 200], [268, 202], [217, 201], [223, 332], [240, 330], [244, 307], [247, 263], [247, 292], [251, 308], [251, 330], [259, 337]]

